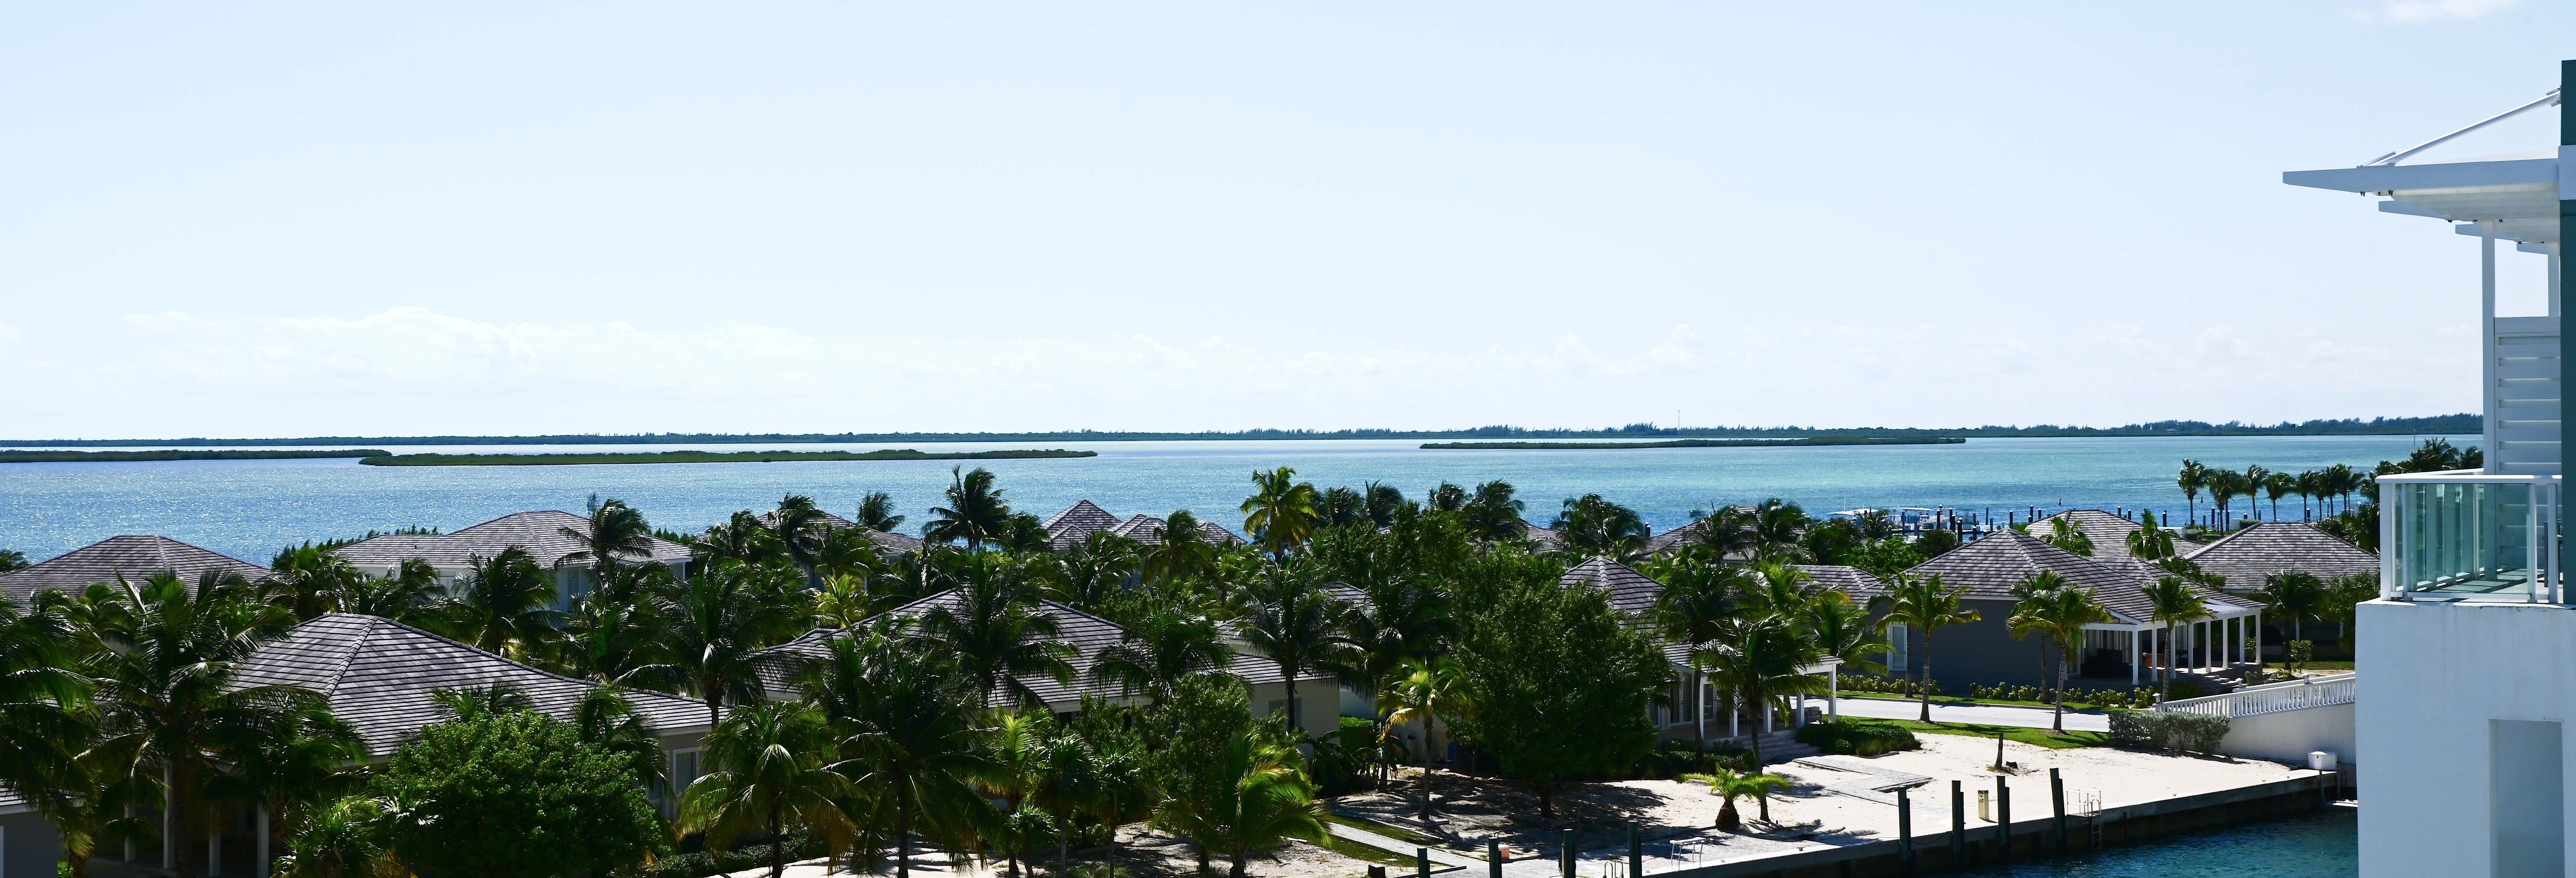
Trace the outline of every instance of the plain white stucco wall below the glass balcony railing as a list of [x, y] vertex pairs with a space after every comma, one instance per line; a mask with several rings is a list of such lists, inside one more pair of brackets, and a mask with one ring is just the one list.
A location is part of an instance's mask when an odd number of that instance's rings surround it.
[[[2561, 721], [2576, 790], [2576, 610], [2360, 605], [2354, 749], [2362, 878], [2494, 875], [2491, 721]], [[2512, 770], [2512, 767], [2506, 767]], [[2576, 808], [2563, 837], [2576, 842]]]

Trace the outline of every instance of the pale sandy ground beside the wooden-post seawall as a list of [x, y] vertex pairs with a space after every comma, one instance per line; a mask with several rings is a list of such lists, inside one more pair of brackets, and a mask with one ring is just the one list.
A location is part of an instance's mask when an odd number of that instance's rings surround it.
[[[1922, 742], [1924, 749], [1880, 754], [1862, 760], [1862, 765], [1932, 778], [1932, 783], [1914, 793], [1914, 827], [1919, 832], [1942, 832], [1950, 827], [1950, 780], [1960, 780], [1965, 790], [1968, 824], [1981, 827], [1984, 821], [1976, 819], [1976, 790], [1994, 790], [1996, 772], [1989, 770], [1994, 765], [1994, 739], [1924, 734]], [[2050, 814], [2050, 767], [2066, 778], [2069, 811], [2076, 811], [2081, 790], [2099, 790], [2102, 806], [2125, 806], [2287, 780], [2295, 772], [2280, 762], [2169, 757], [2110, 747], [2045, 749], [2020, 742], [2004, 742], [2004, 760], [2014, 762], [2012, 772], [2002, 775], [2012, 788], [2014, 819]], [[1772, 772], [1793, 783], [1790, 790], [1772, 796], [1772, 824], [1754, 824], [1759, 816], [1757, 803], [1736, 803], [1757, 834], [1780, 839], [1806, 837], [1829, 845], [1896, 834], [1893, 796], [1873, 801], [1826, 790], [1829, 785], [1868, 780], [1868, 775], [1795, 762], [1772, 765]], [[1432, 829], [1450, 839], [1453, 847], [1471, 852], [1481, 852], [1486, 839], [1499, 839], [1525, 852], [1553, 850], [1564, 829], [1579, 832], [1577, 845], [1582, 850], [1625, 845], [1628, 821], [1638, 821], [1649, 839], [1710, 837], [1716, 834], [1713, 827], [1721, 808], [1721, 801], [1705, 785], [1674, 780], [1569, 783], [1558, 785], [1556, 814], [1540, 819], [1538, 798], [1520, 783], [1435, 772], [1432, 785], [1437, 788], [1437, 808], [1430, 827], [1412, 821], [1412, 788], [1345, 796], [1340, 806], [1386, 824]]]

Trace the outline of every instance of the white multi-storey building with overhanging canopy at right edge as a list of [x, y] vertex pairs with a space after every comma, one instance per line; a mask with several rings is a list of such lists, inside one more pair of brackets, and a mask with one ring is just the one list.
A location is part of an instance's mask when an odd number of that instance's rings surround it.
[[[2566, 62], [2563, 80], [2576, 80]], [[2362, 875], [2563, 875], [2576, 613], [2558, 577], [2561, 227], [2576, 214], [2576, 116], [2561, 147], [2416, 160], [2460, 134], [2290, 185], [2383, 196], [2383, 214], [2478, 239], [2486, 469], [2380, 479], [2380, 600], [2360, 608]], [[2548, 260], [2548, 314], [2496, 314], [2496, 257]], [[2465, 291], [2468, 283], [2463, 283]], [[2465, 299], [2465, 296], [2460, 296]], [[2409, 337], [2409, 332], [2393, 332]], [[2421, 332], [2411, 340], [2424, 340]]]

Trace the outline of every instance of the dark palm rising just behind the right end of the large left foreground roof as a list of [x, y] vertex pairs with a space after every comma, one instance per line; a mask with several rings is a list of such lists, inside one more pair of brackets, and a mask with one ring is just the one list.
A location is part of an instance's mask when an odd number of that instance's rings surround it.
[[672, 669], [706, 700], [706, 721], [724, 718], [724, 703], [760, 700], [752, 654], [804, 621], [788, 597], [793, 579], [773, 566], [724, 561], [672, 590]]

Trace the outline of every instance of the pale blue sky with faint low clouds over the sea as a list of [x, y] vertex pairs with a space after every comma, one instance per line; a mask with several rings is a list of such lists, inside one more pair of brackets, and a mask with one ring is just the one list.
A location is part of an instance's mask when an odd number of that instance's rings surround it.
[[2476, 239], [2280, 173], [2566, 57], [2532, 0], [10, 5], [0, 438], [2470, 412]]

